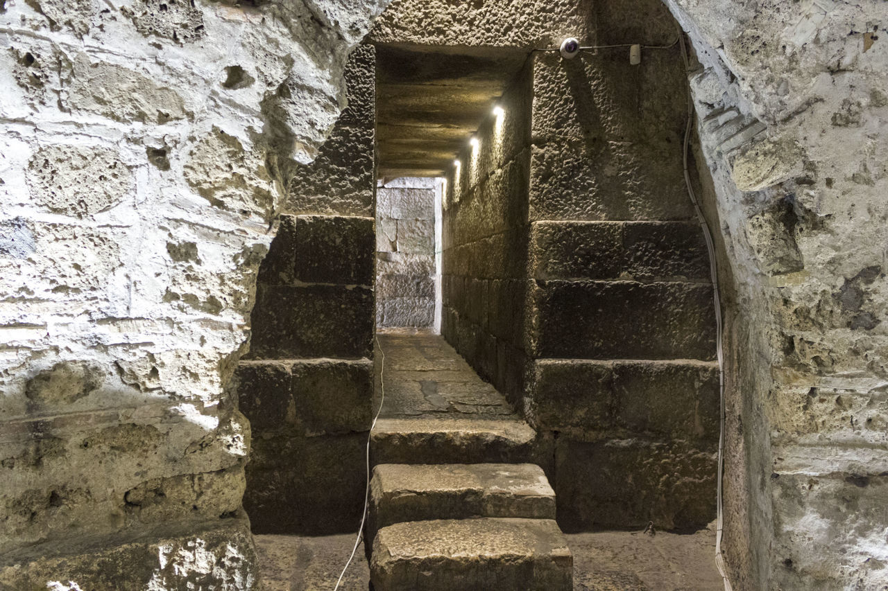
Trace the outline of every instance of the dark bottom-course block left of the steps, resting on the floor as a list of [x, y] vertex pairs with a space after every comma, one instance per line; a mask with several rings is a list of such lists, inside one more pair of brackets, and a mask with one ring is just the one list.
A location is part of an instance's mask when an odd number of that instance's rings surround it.
[[354, 533], [361, 523], [366, 445], [366, 433], [257, 438], [243, 498], [252, 531]]

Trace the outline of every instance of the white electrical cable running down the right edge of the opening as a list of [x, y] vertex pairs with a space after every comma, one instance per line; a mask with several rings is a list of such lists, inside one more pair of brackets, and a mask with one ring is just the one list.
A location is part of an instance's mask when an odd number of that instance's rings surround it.
[[[678, 41], [681, 44], [681, 58], [685, 62], [685, 72], [690, 73], [690, 63], [687, 59], [687, 48], [685, 46], [685, 36], [679, 32]], [[722, 556], [721, 542], [724, 532], [725, 516], [722, 506], [722, 473], [725, 467], [725, 359], [722, 350], [722, 316], [721, 316], [721, 295], [718, 290], [718, 266], [716, 264], [716, 248], [712, 242], [712, 233], [710, 226], [706, 224], [706, 218], [700, 209], [700, 204], [694, 195], [694, 187], [691, 185], [691, 174], [687, 168], [687, 151], [691, 140], [691, 129], [694, 124], [694, 98], [691, 96], [691, 89], [687, 89], [687, 125], [685, 128], [685, 144], [684, 144], [684, 162], [685, 162], [685, 183], [687, 185], [687, 193], [691, 196], [691, 202], [694, 203], [694, 211], [697, 219], [703, 229], [703, 237], [706, 239], [706, 248], [710, 253], [710, 277], [712, 279], [712, 296], [715, 300], [716, 308], [716, 357], [718, 359], [718, 393], [721, 398], [719, 410], [719, 433], [718, 433], [718, 475], [716, 485], [716, 566], [718, 574], [725, 581], [725, 591], [732, 591], [731, 581], [727, 578], [727, 570], [725, 568], [725, 557]]]

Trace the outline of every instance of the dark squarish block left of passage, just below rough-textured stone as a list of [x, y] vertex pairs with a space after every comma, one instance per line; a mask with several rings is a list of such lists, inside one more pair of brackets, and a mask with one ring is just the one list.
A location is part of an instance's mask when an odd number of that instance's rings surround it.
[[376, 251], [370, 217], [297, 217], [294, 248], [297, 281], [366, 287], [373, 283]]

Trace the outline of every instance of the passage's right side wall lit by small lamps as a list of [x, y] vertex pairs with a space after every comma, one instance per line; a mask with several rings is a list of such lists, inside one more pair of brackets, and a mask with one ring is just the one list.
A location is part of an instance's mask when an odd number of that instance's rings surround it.
[[522, 390], [530, 70], [503, 94], [447, 180], [441, 334], [513, 403]]

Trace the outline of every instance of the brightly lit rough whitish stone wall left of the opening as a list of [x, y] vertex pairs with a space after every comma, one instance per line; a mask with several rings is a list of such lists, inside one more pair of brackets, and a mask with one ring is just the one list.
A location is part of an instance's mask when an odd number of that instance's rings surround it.
[[4, 585], [252, 585], [227, 384], [280, 167], [384, 5], [0, 6]]

